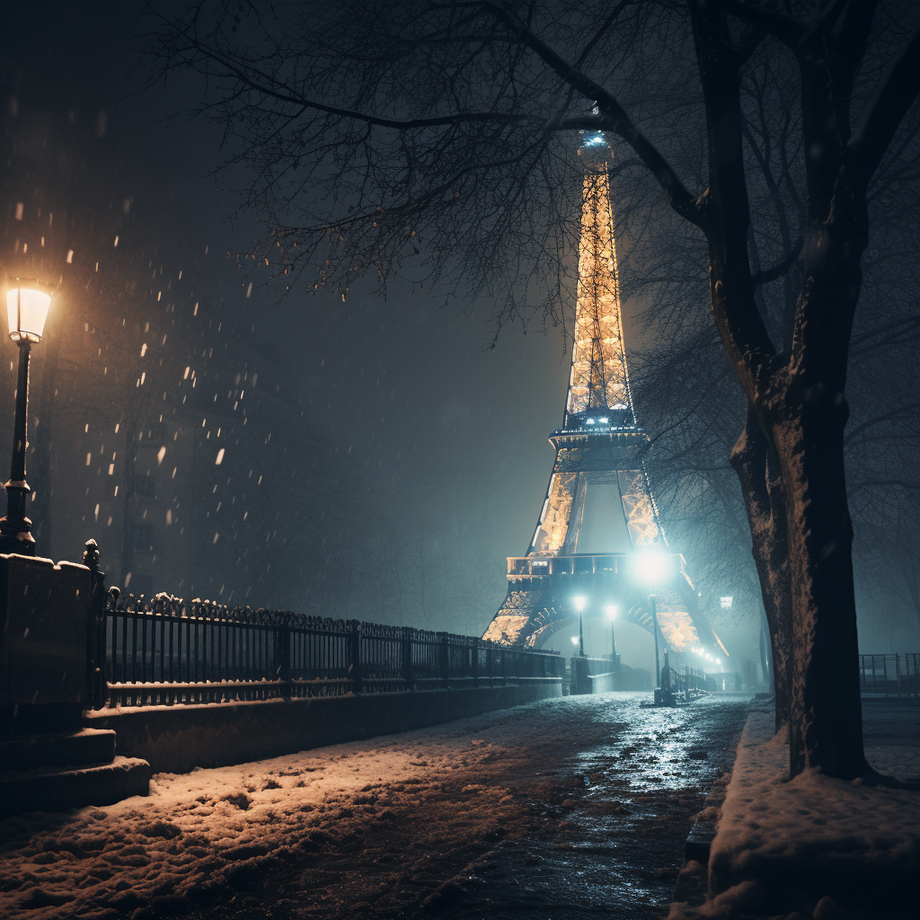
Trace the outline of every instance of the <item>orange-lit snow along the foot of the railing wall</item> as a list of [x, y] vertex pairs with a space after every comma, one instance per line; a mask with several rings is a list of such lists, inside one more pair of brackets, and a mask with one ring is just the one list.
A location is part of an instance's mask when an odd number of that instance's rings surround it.
[[[228, 865], [291, 847], [311, 829], [385, 819], [393, 799], [421, 798], [459, 767], [507, 758], [506, 744], [444, 734], [354, 742], [258, 763], [157, 774], [150, 796], [73, 815], [4, 822], [0, 912], [36, 920], [105, 915], [218, 882]], [[476, 808], [499, 815], [505, 790], [469, 788]], [[34, 908], [43, 908], [36, 910]]]

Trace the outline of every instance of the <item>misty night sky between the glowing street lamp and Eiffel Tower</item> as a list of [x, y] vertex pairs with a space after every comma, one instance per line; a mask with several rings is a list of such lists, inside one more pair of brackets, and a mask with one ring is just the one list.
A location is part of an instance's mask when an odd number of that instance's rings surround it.
[[[201, 86], [147, 86], [132, 12], [10, 18], [2, 258], [62, 278], [33, 352], [40, 555], [78, 560], [94, 537], [130, 591], [481, 633], [546, 491], [561, 329], [493, 339], [488, 302], [372, 278], [344, 301], [305, 282], [279, 303], [247, 261], [262, 234], [245, 176], [219, 171], [218, 127], [177, 114]], [[618, 496], [602, 491], [582, 551], [616, 548], [601, 542]], [[757, 657], [758, 616], [714, 623], [739, 657]], [[909, 618], [866, 622], [878, 650], [915, 638]], [[568, 654], [573, 628], [549, 647]], [[649, 667], [650, 637], [616, 628], [623, 661]], [[609, 653], [609, 624], [586, 619], [585, 643]]]

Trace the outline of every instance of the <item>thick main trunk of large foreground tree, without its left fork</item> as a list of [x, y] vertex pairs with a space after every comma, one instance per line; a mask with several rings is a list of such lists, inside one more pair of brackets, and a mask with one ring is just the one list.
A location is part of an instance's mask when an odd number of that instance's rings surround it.
[[[810, 183], [820, 185], [811, 176]], [[846, 158], [832, 188], [827, 211], [811, 214], [788, 364], [772, 374], [759, 408], [769, 420], [786, 501], [794, 612], [792, 775], [819, 767], [829, 776], [853, 779], [871, 771], [859, 699], [844, 388], [868, 212], [864, 181]]]

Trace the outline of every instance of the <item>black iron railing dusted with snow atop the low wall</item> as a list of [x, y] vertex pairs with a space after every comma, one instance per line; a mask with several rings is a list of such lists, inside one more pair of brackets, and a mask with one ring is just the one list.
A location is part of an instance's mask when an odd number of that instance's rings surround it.
[[90, 643], [97, 709], [499, 686], [565, 668], [558, 652], [167, 594], [108, 596]]

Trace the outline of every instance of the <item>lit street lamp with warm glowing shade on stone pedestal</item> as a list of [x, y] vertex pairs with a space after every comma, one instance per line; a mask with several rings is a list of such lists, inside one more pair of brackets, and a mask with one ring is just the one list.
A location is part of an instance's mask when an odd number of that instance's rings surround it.
[[33, 342], [41, 341], [52, 284], [34, 278], [10, 278], [6, 287], [9, 337], [19, 346], [19, 378], [16, 390], [16, 422], [13, 429], [13, 462], [6, 489], [6, 517], [0, 519], [0, 552], [35, 555], [32, 522], [26, 517], [26, 441], [29, 412], [29, 355]]

